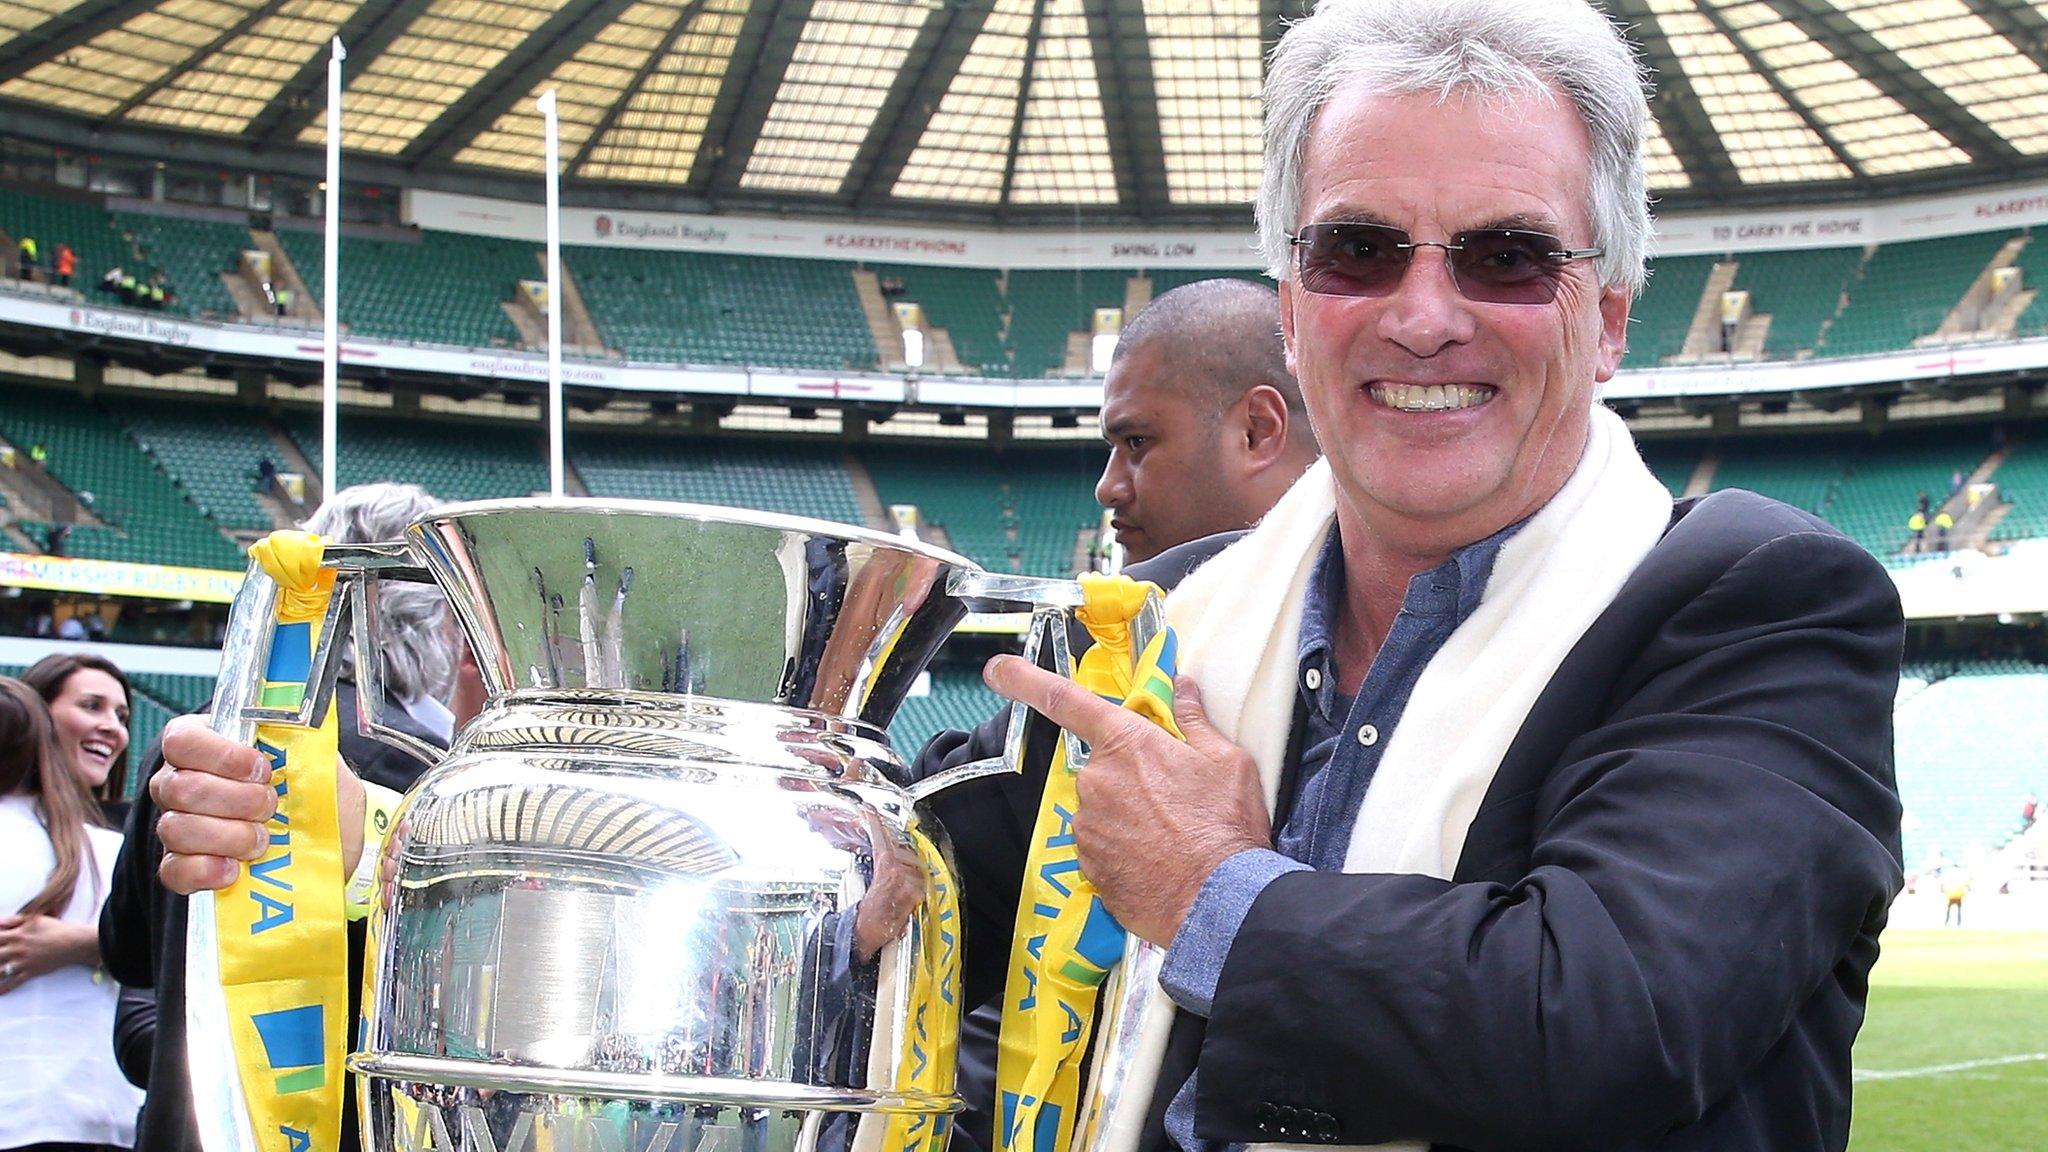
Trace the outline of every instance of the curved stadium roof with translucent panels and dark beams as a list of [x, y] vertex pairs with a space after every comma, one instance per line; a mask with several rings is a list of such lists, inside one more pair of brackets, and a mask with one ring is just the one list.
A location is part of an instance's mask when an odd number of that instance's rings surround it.
[[[6, 131], [573, 201], [1241, 221], [1305, 0], [0, 0]], [[1657, 70], [1667, 207], [2048, 172], [2048, 0], [1606, 0]]]

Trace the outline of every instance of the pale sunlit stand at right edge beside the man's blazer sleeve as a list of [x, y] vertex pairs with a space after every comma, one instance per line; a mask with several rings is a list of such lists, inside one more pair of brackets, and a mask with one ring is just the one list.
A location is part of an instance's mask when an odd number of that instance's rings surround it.
[[1911, 668], [1925, 687], [1901, 693], [1898, 795], [1907, 869], [1966, 863], [2019, 828], [2019, 799], [2048, 793], [2048, 668], [1982, 660]]

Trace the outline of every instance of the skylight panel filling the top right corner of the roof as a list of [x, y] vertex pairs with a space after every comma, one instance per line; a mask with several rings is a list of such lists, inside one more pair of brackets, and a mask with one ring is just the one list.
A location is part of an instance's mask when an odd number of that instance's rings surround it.
[[2048, 76], [1962, 0], [1829, 0], [2030, 156], [2048, 152]]

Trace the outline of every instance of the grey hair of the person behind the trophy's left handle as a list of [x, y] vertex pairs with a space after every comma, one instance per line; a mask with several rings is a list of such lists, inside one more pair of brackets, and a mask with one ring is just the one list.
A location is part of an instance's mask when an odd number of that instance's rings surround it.
[[[438, 506], [440, 500], [418, 484], [356, 484], [328, 496], [305, 521], [305, 531], [334, 543], [391, 541]], [[379, 584], [377, 629], [385, 691], [401, 701], [446, 699], [455, 687], [457, 642], [440, 588]], [[342, 652], [342, 674], [354, 676], [352, 650]]]

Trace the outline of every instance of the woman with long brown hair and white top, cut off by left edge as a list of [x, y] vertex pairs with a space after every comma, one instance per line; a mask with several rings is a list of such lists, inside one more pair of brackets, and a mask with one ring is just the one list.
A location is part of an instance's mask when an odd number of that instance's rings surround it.
[[131, 1148], [141, 1093], [113, 1056], [117, 986], [92, 931], [121, 834], [57, 750], [49, 709], [0, 676], [0, 1148]]

